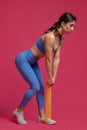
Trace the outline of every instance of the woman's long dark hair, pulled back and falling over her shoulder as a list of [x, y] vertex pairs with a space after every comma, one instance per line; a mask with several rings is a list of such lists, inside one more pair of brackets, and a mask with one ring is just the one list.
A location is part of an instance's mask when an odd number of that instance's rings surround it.
[[76, 21], [76, 16], [74, 16], [73, 14], [71, 13], [64, 13], [60, 16], [59, 20], [57, 22], [55, 22], [47, 31], [45, 31], [44, 33], [47, 33], [47, 32], [50, 32], [50, 31], [53, 31], [53, 30], [57, 30], [60, 26], [61, 26], [61, 23], [64, 22], [65, 24], [67, 22], [73, 22], [73, 21]]

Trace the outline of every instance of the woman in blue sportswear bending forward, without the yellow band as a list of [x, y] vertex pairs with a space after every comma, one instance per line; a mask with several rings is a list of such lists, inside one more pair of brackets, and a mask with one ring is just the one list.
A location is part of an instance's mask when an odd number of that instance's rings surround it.
[[[45, 56], [48, 74], [47, 84], [52, 87], [57, 77], [60, 51], [63, 43], [62, 35], [71, 32], [74, 29], [75, 23], [76, 17], [74, 15], [71, 13], [62, 14], [59, 20], [42, 34], [30, 50], [26, 50], [16, 57], [16, 66], [30, 86], [24, 94], [20, 105], [13, 111], [19, 124], [27, 124], [24, 119], [23, 109], [35, 94], [39, 110], [38, 121], [45, 122], [44, 84], [37, 61]], [[54, 53], [53, 59], [52, 53]], [[56, 121], [48, 119], [48, 124], [55, 123]]]

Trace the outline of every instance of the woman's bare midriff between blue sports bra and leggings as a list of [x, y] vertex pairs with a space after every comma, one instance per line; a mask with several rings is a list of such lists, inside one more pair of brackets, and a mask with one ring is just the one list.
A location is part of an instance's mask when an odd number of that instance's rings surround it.
[[[44, 37], [41, 37], [42, 41], [44, 40]], [[43, 43], [44, 44], [44, 43]], [[36, 45], [33, 45], [32, 48], [30, 49], [32, 53], [37, 57], [41, 58], [44, 57], [45, 55], [36, 47]]]

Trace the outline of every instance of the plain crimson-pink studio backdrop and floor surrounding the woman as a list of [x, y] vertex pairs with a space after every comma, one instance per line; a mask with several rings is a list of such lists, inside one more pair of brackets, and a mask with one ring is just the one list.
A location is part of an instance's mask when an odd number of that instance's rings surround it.
[[[30, 48], [64, 12], [77, 16], [75, 30], [64, 35], [58, 78], [53, 87], [55, 126], [38, 125], [35, 98], [25, 109], [26, 127], [14, 123], [12, 110], [27, 83], [18, 73], [15, 56]], [[87, 1], [0, 0], [0, 129], [87, 130]], [[39, 61], [46, 82], [44, 59]]]

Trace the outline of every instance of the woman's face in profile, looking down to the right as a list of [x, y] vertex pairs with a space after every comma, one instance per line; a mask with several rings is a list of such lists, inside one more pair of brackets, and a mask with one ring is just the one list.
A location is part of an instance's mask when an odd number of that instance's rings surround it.
[[73, 22], [67, 22], [67, 23], [62, 23], [61, 24], [62, 29], [63, 29], [63, 33], [70, 33], [71, 31], [74, 30], [74, 26], [75, 26], [75, 21]]

